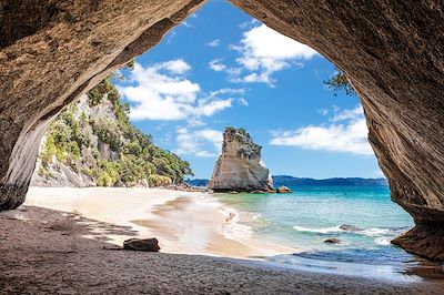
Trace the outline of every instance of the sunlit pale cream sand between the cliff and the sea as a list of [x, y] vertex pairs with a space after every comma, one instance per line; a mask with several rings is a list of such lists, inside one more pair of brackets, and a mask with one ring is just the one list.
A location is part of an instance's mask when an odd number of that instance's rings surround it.
[[[157, 237], [164, 253], [260, 258], [296, 251], [255, 240], [251, 228], [239, 224], [240, 213], [222, 205], [209, 193], [155, 187], [33, 186], [24, 205], [125, 226], [134, 233], [132, 237]], [[88, 225], [94, 233], [101, 233], [97, 224]], [[102, 234], [118, 246], [129, 238], [119, 233]]]

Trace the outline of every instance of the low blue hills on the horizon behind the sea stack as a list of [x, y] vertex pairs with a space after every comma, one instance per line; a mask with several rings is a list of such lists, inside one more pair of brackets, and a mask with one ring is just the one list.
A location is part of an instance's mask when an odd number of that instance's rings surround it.
[[[209, 180], [185, 180], [185, 183], [193, 186], [206, 186]], [[361, 177], [334, 177], [325, 180], [315, 180], [306, 177], [293, 177], [289, 175], [273, 176], [274, 186], [286, 185], [344, 185], [344, 186], [389, 186], [386, 179], [361, 179]]]

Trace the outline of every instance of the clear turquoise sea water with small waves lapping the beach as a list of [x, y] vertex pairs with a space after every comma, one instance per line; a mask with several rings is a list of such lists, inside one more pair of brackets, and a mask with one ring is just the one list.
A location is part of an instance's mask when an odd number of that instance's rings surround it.
[[[254, 237], [291, 246], [296, 253], [266, 257], [286, 266], [390, 278], [417, 265], [390, 244], [413, 226], [385, 186], [300, 186], [291, 194], [218, 194], [225, 205], [248, 212]], [[359, 228], [341, 230], [343, 224]], [[339, 244], [326, 244], [326, 238]], [[398, 277], [397, 277], [398, 278]]]

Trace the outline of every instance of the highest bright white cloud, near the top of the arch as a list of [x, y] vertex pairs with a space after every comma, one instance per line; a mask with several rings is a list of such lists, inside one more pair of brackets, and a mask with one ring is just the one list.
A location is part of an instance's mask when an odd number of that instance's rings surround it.
[[265, 24], [243, 33], [243, 39], [231, 48], [240, 53], [238, 67], [228, 68], [221, 60], [210, 62], [214, 71], [225, 71], [233, 82], [266, 83], [273, 87], [274, 72], [290, 67], [301, 68], [301, 61], [310, 60], [316, 51], [270, 29]]

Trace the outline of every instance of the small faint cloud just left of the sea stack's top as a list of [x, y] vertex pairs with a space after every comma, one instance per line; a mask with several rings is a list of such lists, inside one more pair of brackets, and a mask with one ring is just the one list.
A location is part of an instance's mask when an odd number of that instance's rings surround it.
[[[176, 130], [178, 149], [176, 154], [191, 154], [199, 157], [216, 156], [222, 146], [222, 132], [212, 129], [189, 130], [180, 128]], [[212, 151], [204, 149], [212, 145]]]

